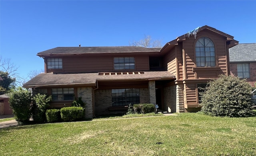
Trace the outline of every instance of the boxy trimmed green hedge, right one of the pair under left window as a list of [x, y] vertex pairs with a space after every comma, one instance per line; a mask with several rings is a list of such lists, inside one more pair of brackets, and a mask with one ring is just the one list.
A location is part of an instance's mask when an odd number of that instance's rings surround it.
[[83, 107], [63, 107], [60, 109], [61, 118], [64, 121], [76, 121], [84, 117]]

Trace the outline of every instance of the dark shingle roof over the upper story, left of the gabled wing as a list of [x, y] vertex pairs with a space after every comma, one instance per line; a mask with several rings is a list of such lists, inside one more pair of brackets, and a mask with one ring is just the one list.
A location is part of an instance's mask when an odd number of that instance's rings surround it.
[[145, 48], [136, 46], [119, 47], [56, 47], [38, 53], [46, 54], [86, 54], [86, 53], [131, 53], [131, 52], [158, 52], [161, 48]]

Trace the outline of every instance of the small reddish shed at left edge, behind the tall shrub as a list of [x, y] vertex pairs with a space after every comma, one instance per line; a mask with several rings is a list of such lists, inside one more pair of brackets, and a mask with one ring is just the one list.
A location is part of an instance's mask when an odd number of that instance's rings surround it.
[[6, 94], [0, 95], [0, 115], [9, 114], [13, 114], [9, 103], [9, 97]]

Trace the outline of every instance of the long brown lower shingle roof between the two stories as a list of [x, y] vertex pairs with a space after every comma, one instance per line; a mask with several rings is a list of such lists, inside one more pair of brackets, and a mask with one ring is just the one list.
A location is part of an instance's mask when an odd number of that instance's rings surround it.
[[162, 79], [171, 80], [175, 76], [168, 71], [144, 72], [144, 74], [122, 74], [122, 75], [100, 75], [99, 73], [79, 73], [79, 74], [53, 74], [41, 73], [30, 81], [26, 82], [23, 87], [39, 86], [61, 86], [61, 85], [88, 85], [95, 86], [96, 81], [117, 81], [117, 80], [149, 80]]

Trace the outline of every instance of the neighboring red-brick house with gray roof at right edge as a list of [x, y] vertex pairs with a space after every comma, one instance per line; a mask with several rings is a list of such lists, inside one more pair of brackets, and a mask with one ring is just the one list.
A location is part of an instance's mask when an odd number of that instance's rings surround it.
[[256, 43], [242, 43], [229, 49], [230, 74], [256, 83]]

